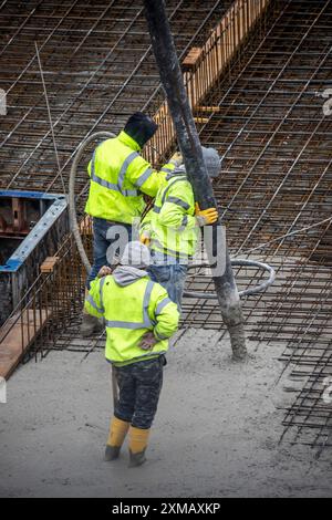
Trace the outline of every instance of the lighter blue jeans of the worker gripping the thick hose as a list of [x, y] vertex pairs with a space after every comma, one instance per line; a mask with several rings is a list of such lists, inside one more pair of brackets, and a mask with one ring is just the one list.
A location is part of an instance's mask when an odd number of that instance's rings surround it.
[[174, 263], [168, 266], [151, 264], [148, 273], [154, 282], [160, 283], [170, 300], [177, 304], [178, 311], [181, 311], [181, 300], [185, 289], [185, 281], [188, 271], [188, 266], [181, 263]]

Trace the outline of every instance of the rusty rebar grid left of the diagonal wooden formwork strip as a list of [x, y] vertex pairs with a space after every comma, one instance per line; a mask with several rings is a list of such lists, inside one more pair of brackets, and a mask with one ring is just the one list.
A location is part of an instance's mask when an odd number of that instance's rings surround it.
[[[229, 3], [167, 2], [179, 51], [203, 44]], [[29, 184], [31, 189], [61, 190], [34, 41], [66, 177], [83, 138], [95, 129], [117, 132], [158, 90], [143, 7], [129, 1], [44, 0], [20, 3], [17, 11], [14, 1], [3, 2], [0, 11], [0, 30], [7, 35], [0, 48], [0, 87], [8, 94], [8, 116], [0, 132], [0, 183], [4, 188]], [[85, 183], [82, 171], [77, 189]]]

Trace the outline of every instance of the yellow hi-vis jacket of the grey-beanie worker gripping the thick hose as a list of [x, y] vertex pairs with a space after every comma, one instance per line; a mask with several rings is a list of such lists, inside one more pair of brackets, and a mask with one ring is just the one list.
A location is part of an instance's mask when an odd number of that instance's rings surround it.
[[170, 175], [166, 187], [159, 189], [154, 208], [146, 215], [141, 230], [149, 233], [151, 249], [186, 263], [195, 253], [199, 235], [195, 197], [184, 173]]

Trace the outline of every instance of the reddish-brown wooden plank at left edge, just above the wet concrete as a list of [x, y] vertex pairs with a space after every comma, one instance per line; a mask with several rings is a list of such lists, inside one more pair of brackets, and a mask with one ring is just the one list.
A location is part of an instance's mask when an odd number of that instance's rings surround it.
[[[46, 311], [24, 311], [15, 322], [9, 320], [7, 329], [1, 330], [0, 340], [0, 376], [8, 379], [21, 361], [24, 353], [35, 340], [46, 322]], [[9, 331], [9, 332], [8, 332]]]

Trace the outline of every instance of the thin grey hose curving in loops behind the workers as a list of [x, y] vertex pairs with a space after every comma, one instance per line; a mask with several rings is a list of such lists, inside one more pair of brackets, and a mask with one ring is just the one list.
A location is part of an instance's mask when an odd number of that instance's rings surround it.
[[[71, 223], [71, 229], [73, 231], [73, 236], [77, 246], [79, 253], [81, 256], [82, 262], [86, 269], [86, 272], [90, 272], [91, 270], [91, 263], [89, 261], [89, 258], [86, 256], [82, 238], [81, 238], [81, 232], [79, 228], [79, 222], [77, 222], [77, 215], [76, 215], [76, 204], [75, 204], [75, 180], [76, 180], [76, 174], [77, 174], [77, 168], [80, 160], [83, 156], [83, 154], [86, 150], [86, 147], [90, 145], [91, 142], [100, 139], [100, 138], [111, 138], [115, 137], [114, 134], [111, 132], [96, 132], [95, 134], [92, 134], [90, 137], [87, 137], [85, 141], [83, 141], [77, 149], [77, 153], [74, 157], [72, 168], [71, 168], [71, 175], [70, 175], [70, 183], [69, 183], [69, 215], [70, 215], [70, 223]], [[256, 285], [250, 289], [246, 289], [245, 291], [240, 291], [239, 295], [240, 297], [249, 297], [251, 294], [257, 294], [260, 292], [263, 292], [268, 289], [268, 287], [272, 285], [272, 283], [276, 280], [276, 271], [273, 268], [268, 266], [267, 263], [258, 262], [257, 260], [242, 260], [242, 259], [235, 259], [231, 260], [232, 266], [243, 266], [243, 267], [256, 267], [258, 269], [262, 269], [264, 271], [269, 272], [269, 279], [266, 282], [260, 283], [259, 285]], [[208, 268], [208, 263], [200, 263], [200, 264], [191, 264], [189, 266], [189, 269], [195, 269], [195, 268]], [[216, 300], [217, 294], [215, 293], [209, 293], [209, 292], [195, 292], [195, 291], [185, 291], [184, 295], [187, 298], [196, 298], [196, 299], [204, 299], [204, 300]]]

